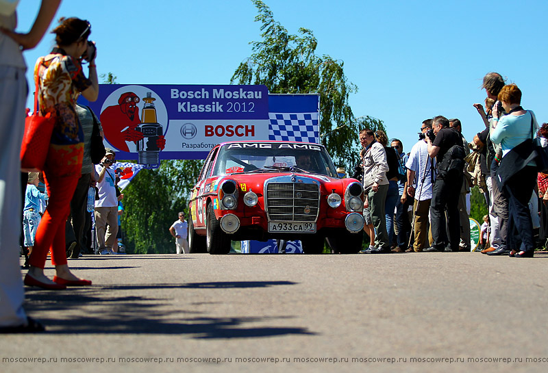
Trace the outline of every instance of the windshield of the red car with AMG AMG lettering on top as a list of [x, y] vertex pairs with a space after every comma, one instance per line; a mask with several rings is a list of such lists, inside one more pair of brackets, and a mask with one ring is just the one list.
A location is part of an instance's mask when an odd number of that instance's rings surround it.
[[291, 170], [338, 178], [323, 146], [280, 142], [225, 144], [219, 151], [213, 175]]

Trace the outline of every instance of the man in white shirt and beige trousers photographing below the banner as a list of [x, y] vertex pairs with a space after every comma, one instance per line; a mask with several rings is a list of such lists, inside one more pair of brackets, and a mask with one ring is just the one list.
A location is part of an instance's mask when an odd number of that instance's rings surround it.
[[119, 198], [116, 196], [116, 174], [110, 169], [110, 165], [114, 163], [114, 157], [114, 151], [107, 148], [101, 164], [95, 166], [95, 170], [99, 173], [99, 179], [97, 179], [99, 200], [95, 201], [95, 233], [101, 255], [114, 253], [112, 248], [118, 232]]

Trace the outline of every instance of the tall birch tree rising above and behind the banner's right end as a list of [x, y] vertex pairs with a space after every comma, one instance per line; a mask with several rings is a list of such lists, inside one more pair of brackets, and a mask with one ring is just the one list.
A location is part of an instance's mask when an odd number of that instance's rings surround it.
[[265, 3], [251, 1], [258, 9], [255, 20], [261, 23], [262, 40], [251, 42], [251, 57], [238, 66], [230, 82], [264, 84], [270, 93], [318, 93], [321, 143], [337, 166], [349, 167], [360, 149], [360, 123], [371, 118], [364, 117], [360, 122], [352, 114], [348, 99], [357, 88], [348, 81], [344, 62], [316, 55], [318, 41], [310, 29], [300, 28], [299, 35], [289, 34]]

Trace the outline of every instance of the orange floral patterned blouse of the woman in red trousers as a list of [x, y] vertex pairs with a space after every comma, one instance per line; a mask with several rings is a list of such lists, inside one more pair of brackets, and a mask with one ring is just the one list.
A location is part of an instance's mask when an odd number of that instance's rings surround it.
[[38, 58], [34, 75], [39, 78], [38, 105], [42, 115], [51, 112], [55, 119], [51, 146], [84, 146], [84, 133], [75, 111], [76, 100], [92, 85], [79, 64], [62, 49]]

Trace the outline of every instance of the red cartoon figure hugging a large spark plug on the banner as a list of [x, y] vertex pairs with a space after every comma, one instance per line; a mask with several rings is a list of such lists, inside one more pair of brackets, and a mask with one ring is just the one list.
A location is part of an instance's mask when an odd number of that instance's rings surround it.
[[134, 142], [140, 164], [158, 164], [158, 153], [166, 146], [163, 127], [158, 123], [151, 92], [147, 92], [143, 101], [140, 119], [139, 97], [134, 92], [123, 92], [118, 105], [101, 112], [101, 123], [106, 140], [116, 149], [129, 152], [127, 142]]

